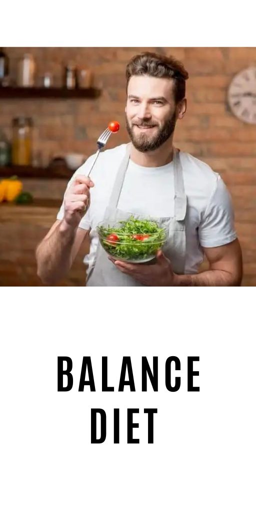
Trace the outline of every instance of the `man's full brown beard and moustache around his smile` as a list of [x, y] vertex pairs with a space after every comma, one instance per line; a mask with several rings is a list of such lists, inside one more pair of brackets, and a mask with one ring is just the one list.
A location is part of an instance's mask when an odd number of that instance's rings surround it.
[[[136, 135], [134, 133], [134, 126], [144, 126], [150, 127], [155, 126], [155, 133], [153, 135], [148, 135], [145, 133], [140, 133]], [[160, 148], [167, 139], [173, 134], [176, 125], [176, 112], [174, 112], [173, 116], [170, 117], [169, 120], [165, 121], [164, 125], [160, 128], [153, 121], [143, 121], [138, 120], [136, 123], [132, 123], [132, 126], [129, 125], [129, 121], [126, 115], [126, 130], [131, 137], [131, 141], [136, 148], [136, 150], [141, 151], [142, 153], [146, 153], [147, 151], [154, 151]]]

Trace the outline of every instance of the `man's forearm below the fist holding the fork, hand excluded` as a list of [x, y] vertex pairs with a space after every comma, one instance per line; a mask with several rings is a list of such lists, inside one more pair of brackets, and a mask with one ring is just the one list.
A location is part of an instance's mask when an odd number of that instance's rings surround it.
[[55, 284], [71, 267], [76, 230], [64, 220], [36, 249], [37, 274], [43, 283]]

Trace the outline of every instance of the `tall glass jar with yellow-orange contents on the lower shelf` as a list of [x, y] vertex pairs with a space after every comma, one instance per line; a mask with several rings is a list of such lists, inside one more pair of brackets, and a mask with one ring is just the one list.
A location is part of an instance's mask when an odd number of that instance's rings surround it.
[[32, 119], [15, 117], [12, 120], [12, 164], [16, 166], [32, 165]]

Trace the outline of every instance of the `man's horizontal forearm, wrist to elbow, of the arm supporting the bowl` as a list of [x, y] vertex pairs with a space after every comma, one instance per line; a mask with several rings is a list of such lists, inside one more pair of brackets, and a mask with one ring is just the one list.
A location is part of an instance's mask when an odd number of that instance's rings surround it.
[[212, 269], [198, 274], [176, 274], [177, 287], [239, 287], [241, 277], [234, 274]]

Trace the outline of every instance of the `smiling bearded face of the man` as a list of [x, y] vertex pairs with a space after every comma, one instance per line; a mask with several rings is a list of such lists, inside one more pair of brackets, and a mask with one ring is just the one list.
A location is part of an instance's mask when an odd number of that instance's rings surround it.
[[138, 151], [154, 151], [174, 132], [177, 109], [169, 78], [130, 78], [125, 108], [126, 128]]

